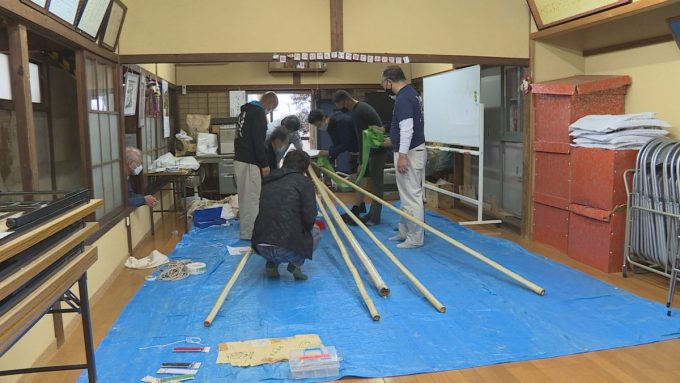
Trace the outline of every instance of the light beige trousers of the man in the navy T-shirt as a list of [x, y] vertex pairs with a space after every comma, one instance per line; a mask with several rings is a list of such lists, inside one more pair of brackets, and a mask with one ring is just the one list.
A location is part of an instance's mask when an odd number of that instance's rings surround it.
[[[408, 171], [396, 172], [397, 188], [401, 210], [413, 217], [424, 221], [425, 208], [423, 207], [423, 183], [425, 177], [425, 162], [427, 151], [425, 144], [408, 151]], [[399, 160], [399, 153], [394, 153], [394, 164]], [[410, 220], [402, 217], [399, 221], [399, 235], [406, 238], [406, 243], [422, 245], [425, 239], [425, 230]]]

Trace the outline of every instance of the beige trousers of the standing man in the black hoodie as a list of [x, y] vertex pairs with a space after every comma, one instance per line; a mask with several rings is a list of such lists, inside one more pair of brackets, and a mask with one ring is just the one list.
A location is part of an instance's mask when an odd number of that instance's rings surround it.
[[240, 161], [234, 161], [234, 174], [238, 193], [240, 238], [250, 241], [250, 237], [253, 236], [255, 218], [260, 211], [262, 174], [257, 165]]

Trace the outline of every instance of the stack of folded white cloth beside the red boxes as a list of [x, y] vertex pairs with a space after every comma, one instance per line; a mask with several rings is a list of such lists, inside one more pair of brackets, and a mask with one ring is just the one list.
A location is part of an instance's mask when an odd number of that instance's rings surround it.
[[640, 149], [668, 134], [671, 125], [656, 113], [603, 114], [582, 117], [569, 126], [574, 146], [603, 149]]

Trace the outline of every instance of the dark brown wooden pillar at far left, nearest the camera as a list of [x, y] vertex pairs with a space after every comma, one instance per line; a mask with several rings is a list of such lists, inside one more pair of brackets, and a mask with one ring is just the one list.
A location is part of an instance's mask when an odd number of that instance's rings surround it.
[[24, 191], [37, 190], [38, 155], [36, 152], [35, 123], [31, 101], [31, 83], [28, 69], [28, 37], [26, 26], [16, 21], [7, 22], [9, 38], [9, 68], [12, 99], [17, 115], [17, 141], [19, 164]]

